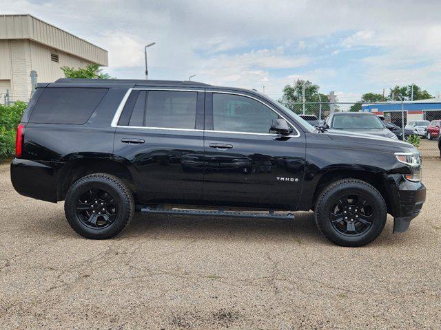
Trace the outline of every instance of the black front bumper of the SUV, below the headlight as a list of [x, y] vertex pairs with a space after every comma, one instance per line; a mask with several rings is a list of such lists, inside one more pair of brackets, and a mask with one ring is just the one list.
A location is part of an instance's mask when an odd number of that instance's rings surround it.
[[405, 232], [410, 222], [420, 214], [426, 201], [426, 187], [421, 182], [412, 182], [400, 174], [389, 175], [391, 184], [391, 214], [393, 215], [393, 232]]

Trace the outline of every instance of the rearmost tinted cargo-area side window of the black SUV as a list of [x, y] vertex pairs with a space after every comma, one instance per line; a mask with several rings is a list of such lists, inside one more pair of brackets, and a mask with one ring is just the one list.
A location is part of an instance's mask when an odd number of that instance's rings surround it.
[[106, 88], [45, 88], [30, 122], [84, 124], [106, 92]]

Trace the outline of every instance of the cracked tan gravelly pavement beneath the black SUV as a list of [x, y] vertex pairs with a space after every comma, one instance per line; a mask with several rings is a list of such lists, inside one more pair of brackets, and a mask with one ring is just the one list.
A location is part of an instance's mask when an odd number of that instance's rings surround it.
[[1, 329], [440, 329], [440, 159], [409, 232], [340, 248], [296, 221], [137, 216], [89, 241], [0, 166]]

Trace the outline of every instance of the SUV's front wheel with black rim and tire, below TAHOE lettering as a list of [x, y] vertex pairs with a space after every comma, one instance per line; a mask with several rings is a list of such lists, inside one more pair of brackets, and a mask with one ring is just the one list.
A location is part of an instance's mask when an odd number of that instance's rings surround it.
[[320, 192], [315, 218], [318, 229], [329, 241], [357, 247], [380, 235], [386, 224], [387, 207], [380, 192], [367, 182], [341, 179]]

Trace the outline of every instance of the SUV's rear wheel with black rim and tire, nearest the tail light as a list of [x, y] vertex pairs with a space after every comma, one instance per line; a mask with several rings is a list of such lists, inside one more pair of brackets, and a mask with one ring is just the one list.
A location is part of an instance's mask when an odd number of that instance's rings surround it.
[[72, 184], [64, 212], [72, 229], [86, 239], [110, 239], [132, 220], [134, 199], [121, 179], [95, 173]]

